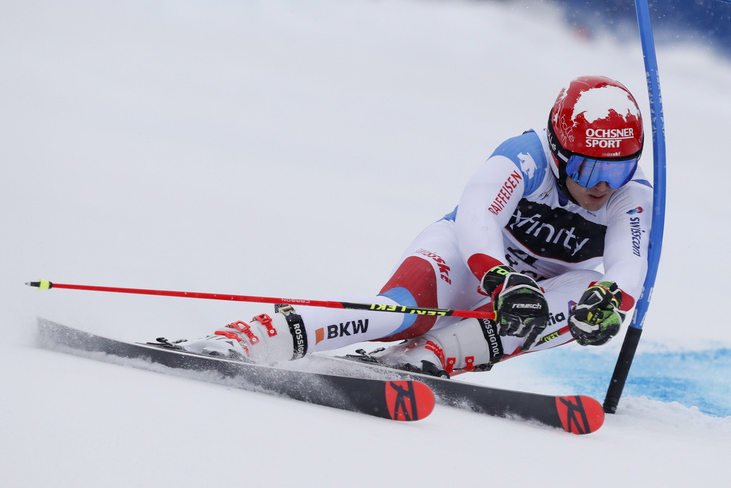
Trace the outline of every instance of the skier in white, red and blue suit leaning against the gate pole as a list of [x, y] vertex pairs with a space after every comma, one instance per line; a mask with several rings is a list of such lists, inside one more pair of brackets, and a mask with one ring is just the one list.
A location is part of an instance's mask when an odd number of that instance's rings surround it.
[[652, 191], [637, 166], [643, 139], [640, 109], [621, 83], [572, 80], [548, 127], [501, 143], [457, 208], [406, 249], [378, 296], [337, 298], [494, 311], [495, 320], [297, 304], [172, 345], [270, 364], [356, 342], [402, 341], [373, 357], [447, 376], [574, 339], [605, 344], [647, 271]]

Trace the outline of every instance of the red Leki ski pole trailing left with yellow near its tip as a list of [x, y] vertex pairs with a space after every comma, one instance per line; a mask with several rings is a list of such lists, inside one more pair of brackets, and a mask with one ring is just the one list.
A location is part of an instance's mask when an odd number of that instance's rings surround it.
[[26, 285], [34, 286], [39, 290], [49, 290], [50, 288], [67, 288], [69, 290], [107, 291], [111, 293], [135, 293], [137, 295], [178, 296], [184, 299], [207, 299], [247, 302], [250, 301], [262, 304], [300, 304], [306, 305], [308, 307], [374, 310], [376, 312], [413, 313], [417, 315], [438, 315], [444, 317], [451, 315], [454, 317], [463, 318], [495, 318], [495, 314], [493, 312], [476, 312], [472, 310], [435, 309], [429, 307], [404, 307], [401, 305], [382, 304], [357, 304], [349, 301], [279, 299], [270, 296], [221, 295], [218, 293], [194, 293], [189, 291], [144, 290], [140, 288], [112, 288], [105, 286], [67, 285], [64, 283], [52, 283], [46, 279], [27, 282]]

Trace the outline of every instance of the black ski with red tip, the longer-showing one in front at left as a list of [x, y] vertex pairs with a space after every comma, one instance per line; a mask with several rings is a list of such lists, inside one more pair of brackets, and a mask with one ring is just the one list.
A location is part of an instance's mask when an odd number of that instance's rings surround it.
[[[263, 391], [269, 394], [325, 405], [327, 407], [365, 413], [399, 421], [420, 420], [434, 408], [434, 396], [428, 386], [414, 380], [380, 380], [354, 378], [341, 375], [301, 372], [277, 367], [260, 366], [231, 359], [187, 353], [164, 348], [162, 345], [138, 344], [108, 339], [87, 332], [62, 326], [42, 318], [38, 319], [41, 344], [45, 348], [80, 353], [93, 359], [88, 353], [105, 353], [129, 359], [142, 359], [131, 364], [144, 368], [145, 364], [162, 364], [166, 367], [199, 372], [216, 372], [227, 386], [244, 390]], [[159, 369], [156, 369], [159, 370]], [[202, 378], [197, 378], [202, 379]], [[210, 375], [205, 381], [211, 381]]]

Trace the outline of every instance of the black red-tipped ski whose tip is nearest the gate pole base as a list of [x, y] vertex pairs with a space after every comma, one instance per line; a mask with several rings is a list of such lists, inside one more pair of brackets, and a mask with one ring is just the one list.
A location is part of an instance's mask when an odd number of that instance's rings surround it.
[[[564, 429], [573, 434], [595, 432], [604, 423], [602, 405], [591, 397], [572, 395], [556, 397], [525, 391], [505, 390], [490, 386], [450, 380], [421, 373], [394, 369], [379, 363], [362, 350], [360, 355], [343, 357], [317, 356], [325, 371], [345, 370], [345, 374], [371, 372], [370, 378], [400, 378], [401, 380], [420, 381], [431, 388], [436, 402], [451, 407], [474, 410], [491, 416], [520, 418], [536, 421], [550, 427]], [[359, 367], [347, 368], [355, 361]]]

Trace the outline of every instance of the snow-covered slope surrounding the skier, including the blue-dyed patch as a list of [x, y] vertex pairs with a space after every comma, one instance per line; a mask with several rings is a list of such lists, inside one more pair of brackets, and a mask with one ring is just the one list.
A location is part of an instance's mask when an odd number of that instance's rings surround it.
[[[571, 78], [621, 80], [647, 116], [637, 40], [586, 40], [537, 1], [28, 0], [0, 4], [0, 46], [2, 486], [727, 484], [731, 66], [707, 46], [658, 49], [661, 269], [626, 396], [588, 436], [446, 407], [397, 424], [43, 350], [37, 316], [148, 340], [263, 310], [23, 283], [376, 293]], [[601, 401], [620, 345], [469, 380]]]

